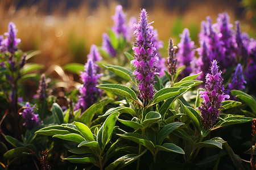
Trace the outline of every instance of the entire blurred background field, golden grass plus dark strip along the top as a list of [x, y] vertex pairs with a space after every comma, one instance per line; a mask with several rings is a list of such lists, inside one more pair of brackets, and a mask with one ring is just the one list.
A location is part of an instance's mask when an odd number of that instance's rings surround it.
[[[200, 23], [207, 16], [215, 23], [218, 13], [228, 12], [230, 23], [240, 20], [242, 32], [255, 39], [254, 0], [210, 1], [0, 1], [0, 35], [7, 32], [9, 22], [14, 22], [22, 42], [23, 51], [40, 50], [42, 53], [33, 62], [43, 63], [46, 69], [52, 64], [63, 66], [69, 62], [86, 62], [90, 45], [101, 46], [102, 33], [113, 25], [111, 16], [115, 6], [121, 4], [127, 14], [138, 19], [141, 8], [146, 8], [149, 22], [158, 30], [159, 40], [164, 42], [163, 57], [167, 56], [170, 37], [175, 44], [179, 34], [188, 28], [191, 38], [198, 45]], [[165, 54], [166, 53], [166, 56]]]

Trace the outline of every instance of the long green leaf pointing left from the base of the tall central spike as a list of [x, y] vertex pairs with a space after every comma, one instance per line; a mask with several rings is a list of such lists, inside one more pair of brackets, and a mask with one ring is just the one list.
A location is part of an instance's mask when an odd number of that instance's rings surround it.
[[127, 97], [129, 99], [136, 100], [137, 95], [131, 88], [123, 86], [121, 84], [101, 84], [96, 86], [102, 90], [113, 92], [114, 94]]

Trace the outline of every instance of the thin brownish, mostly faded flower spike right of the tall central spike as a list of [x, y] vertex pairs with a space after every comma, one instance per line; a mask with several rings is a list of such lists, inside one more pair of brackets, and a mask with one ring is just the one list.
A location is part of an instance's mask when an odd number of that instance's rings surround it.
[[174, 45], [172, 43], [172, 39], [170, 39], [170, 41], [169, 41], [168, 57], [166, 59], [166, 65], [167, 65], [168, 72], [171, 75], [176, 74], [176, 71], [177, 71], [177, 59], [176, 59], [176, 56], [175, 56], [175, 48], [174, 48]]

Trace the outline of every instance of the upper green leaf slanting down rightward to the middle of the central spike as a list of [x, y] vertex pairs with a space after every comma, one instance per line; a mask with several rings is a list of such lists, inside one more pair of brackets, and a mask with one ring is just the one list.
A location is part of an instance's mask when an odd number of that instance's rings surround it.
[[125, 67], [114, 66], [106, 63], [102, 66], [104, 66], [106, 69], [112, 71], [113, 73], [115, 73], [116, 75], [120, 76], [125, 80], [131, 80], [132, 82], [135, 82], [135, 79], [133, 78], [133, 72], [131, 72], [131, 70], [129, 69], [126, 69]]

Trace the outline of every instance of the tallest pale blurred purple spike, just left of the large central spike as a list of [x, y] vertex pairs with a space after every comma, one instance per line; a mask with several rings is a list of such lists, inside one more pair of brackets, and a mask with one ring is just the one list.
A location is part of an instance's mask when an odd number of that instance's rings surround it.
[[121, 5], [115, 7], [115, 15], [112, 16], [112, 19], [114, 20], [112, 30], [117, 34], [118, 37], [121, 34], [124, 38], [126, 38], [128, 29], [126, 26], [126, 16], [123, 14]]

